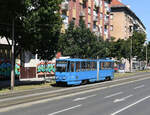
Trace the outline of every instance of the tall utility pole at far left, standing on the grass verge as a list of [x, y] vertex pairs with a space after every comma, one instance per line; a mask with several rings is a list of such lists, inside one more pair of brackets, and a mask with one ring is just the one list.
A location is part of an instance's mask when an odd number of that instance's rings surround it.
[[15, 19], [13, 16], [12, 19], [12, 48], [11, 48], [11, 90], [14, 89], [14, 83], [15, 83], [15, 39], [14, 39], [14, 25], [15, 25]]

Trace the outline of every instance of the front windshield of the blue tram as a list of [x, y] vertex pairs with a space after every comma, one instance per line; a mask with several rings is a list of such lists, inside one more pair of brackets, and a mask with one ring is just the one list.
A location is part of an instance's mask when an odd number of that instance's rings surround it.
[[57, 61], [56, 62], [56, 71], [57, 72], [66, 72], [67, 61]]

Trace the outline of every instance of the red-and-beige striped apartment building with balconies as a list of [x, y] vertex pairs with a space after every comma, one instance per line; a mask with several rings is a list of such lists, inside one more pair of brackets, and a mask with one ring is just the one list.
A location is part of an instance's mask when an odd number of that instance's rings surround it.
[[83, 18], [91, 31], [105, 40], [109, 39], [110, 3], [111, 0], [64, 0], [61, 4], [62, 32], [65, 32], [71, 20], [78, 25], [79, 19]]

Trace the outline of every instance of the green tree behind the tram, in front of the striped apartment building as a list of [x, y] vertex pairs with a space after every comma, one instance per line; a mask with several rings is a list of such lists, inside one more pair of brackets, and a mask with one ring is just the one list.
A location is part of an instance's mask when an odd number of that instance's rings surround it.
[[75, 26], [74, 22], [69, 24], [60, 38], [59, 50], [65, 56], [95, 58], [98, 55], [98, 40], [81, 19], [79, 26]]

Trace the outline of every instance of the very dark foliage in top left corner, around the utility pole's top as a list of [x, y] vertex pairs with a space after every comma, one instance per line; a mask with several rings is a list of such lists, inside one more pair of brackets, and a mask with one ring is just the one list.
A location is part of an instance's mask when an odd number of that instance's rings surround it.
[[[15, 33], [22, 28], [20, 17], [24, 13], [24, 0], [1, 0], [0, 1], [0, 36], [11, 39], [12, 19], [15, 19]], [[17, 36], [15, 35], [17, 38]]]

